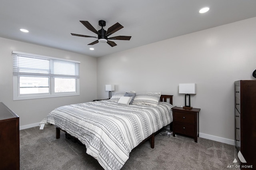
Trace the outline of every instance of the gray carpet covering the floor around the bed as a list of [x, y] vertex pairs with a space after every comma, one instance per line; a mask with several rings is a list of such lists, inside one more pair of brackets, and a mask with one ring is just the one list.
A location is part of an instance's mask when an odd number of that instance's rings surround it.
[[[20, 170], [102, 170], [97, 160], [86, 154], [86, 148], [65, 138], [55, 127], [46, 125], [20, 130]], [[155, 137], [155, 148], [145, 142], [132, 150], [122, 170], [224, 170], [235, 168], [235, 146], [204, 138], [177, 135]], [[228, 168], [228, 167], [234, 168]]]

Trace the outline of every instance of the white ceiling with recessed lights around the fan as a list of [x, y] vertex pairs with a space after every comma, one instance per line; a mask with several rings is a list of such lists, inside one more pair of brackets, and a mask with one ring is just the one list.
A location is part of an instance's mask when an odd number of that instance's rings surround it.
[[[204, 6], [210, 10], [200, 14]], [[0, 37], [100, 57], [252, 17], [256, 0], [1, 0]], [[87, 45], [97, 39], [70, 34], [97, 36], [80, 20], [96, 30], [99, 20], [105, 30], [119, 22], [124, 28], [111, 36], [132, 38]]]

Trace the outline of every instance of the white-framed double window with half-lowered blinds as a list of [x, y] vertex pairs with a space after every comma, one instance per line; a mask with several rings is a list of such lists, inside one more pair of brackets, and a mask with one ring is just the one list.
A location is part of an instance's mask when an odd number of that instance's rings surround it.
[[80, 62], [12, 51], [13, 99], [79, 95]]

